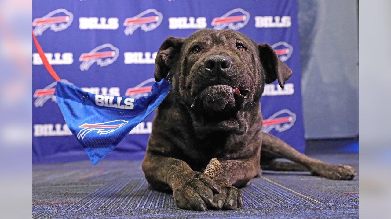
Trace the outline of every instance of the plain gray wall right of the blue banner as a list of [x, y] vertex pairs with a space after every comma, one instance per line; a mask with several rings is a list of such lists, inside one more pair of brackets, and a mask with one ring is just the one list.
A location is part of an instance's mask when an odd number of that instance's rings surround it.
[[306, 139], [358, 135], [358, 3], [298, 0]]

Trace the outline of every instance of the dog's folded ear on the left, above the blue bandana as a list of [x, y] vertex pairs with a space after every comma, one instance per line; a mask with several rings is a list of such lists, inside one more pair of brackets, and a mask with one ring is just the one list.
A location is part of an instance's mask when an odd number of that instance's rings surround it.
[[171, 67], [178, 61], [185, 38], [168, 37], [161, 44], [155, 59], [155, 80], [166, 78]]

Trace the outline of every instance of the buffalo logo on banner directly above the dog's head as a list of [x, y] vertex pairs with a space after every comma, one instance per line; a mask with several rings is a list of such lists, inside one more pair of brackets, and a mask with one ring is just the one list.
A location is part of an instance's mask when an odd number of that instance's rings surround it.
[[211, 25], [216, 30], [222, 30], [226, 27], [232, 30], [238, 30], [244, 27], [250, 19], [250, 13], [241, 8], [228, 11], [219, 18], [213, 18]]

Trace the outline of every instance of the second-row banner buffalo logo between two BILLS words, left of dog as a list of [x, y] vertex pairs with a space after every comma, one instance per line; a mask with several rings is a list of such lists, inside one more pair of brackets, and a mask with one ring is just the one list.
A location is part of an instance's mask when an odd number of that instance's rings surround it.
[[89, 53], [83, 53], [79, 57], [81, 71], [87, 71], [95, 62], [100, 67], [112, 64], [117, 60], [119, 55], [119, 49], [111, 44], [103, 44], [95, 49], [92, 49]]

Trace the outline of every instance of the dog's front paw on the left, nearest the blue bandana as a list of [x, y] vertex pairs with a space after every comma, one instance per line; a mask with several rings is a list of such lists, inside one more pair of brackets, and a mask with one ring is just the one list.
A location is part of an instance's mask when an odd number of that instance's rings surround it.
[[179, 208], [205, 211], [214, 207], [213, 193], [219, 193], [215, 182], [203, 173], [193, 172], [173, 191], [173, 196]]

